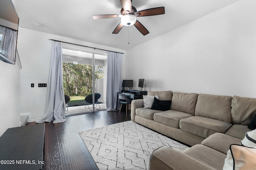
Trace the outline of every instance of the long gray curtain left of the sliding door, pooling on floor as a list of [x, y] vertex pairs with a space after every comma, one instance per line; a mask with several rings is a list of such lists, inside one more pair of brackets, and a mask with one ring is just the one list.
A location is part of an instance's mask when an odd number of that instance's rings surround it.
[[44, 115], [36, 123], [61, 123], [65, 119], [65, 98], [62, 75], [62, 48], [60, 42], [52, 43], [52, 59]]

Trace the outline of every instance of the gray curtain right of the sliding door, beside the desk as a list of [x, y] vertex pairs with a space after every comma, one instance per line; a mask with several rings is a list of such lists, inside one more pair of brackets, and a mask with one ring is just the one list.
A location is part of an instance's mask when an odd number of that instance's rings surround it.
[[122, 89], [121, 65], [122, 54], [108, 51], [107, 69], [107, 96], [106, 106], [108, 111], [116, 110], [117, 93]]

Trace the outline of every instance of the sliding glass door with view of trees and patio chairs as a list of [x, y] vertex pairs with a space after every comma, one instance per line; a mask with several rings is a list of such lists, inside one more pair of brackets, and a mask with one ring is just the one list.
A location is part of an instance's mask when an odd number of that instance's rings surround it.
[[106, 109], [107, 57], [70, 49], [62, 55], [64, 94], [70, 96], [66, 115]]

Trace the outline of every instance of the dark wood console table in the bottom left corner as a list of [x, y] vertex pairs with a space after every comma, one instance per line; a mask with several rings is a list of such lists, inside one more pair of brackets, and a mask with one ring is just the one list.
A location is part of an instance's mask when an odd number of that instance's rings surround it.
[[40, 170], [45, 123], [7, 129], [0, 137], [0, 170]]

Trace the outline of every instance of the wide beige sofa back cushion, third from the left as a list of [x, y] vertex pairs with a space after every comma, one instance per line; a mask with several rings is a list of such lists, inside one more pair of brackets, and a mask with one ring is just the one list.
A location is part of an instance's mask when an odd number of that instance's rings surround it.
[[199, 94], [194, 115], [231, 123], [231, 101], [231, 96]]

